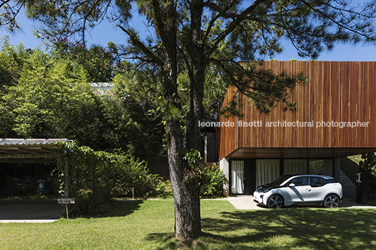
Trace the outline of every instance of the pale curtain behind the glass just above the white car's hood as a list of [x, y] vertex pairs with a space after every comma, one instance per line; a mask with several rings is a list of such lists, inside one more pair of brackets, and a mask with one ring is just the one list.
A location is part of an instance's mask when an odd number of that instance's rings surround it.
[[279, 159], [256, 160], [256, 187], [270, 183], [279, 177]]

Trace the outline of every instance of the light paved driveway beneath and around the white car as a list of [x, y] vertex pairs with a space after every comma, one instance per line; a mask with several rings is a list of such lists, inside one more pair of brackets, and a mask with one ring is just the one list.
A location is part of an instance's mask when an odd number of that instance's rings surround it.
[[[264, 205], [257, 204], [253, 201], [252, 195], [242, 195], [236, 197], [227, 197], [226, 198], [236, 209], [267, 209]], [[296, 206], [293, 206], [296, 207]], [[321, 206], [306, 206], [306, 207], [321, 207]], [[356, 207], [356, 208], [376, 208], [367, 204], [357, 204], [355, 199], [344, 198], [340, 207]]]

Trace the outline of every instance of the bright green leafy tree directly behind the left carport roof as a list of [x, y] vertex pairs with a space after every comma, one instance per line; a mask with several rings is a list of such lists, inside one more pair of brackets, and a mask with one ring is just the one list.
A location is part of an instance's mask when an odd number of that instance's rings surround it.
[[71, 71], [69, 62], [55, 62], [51, 55], [33, 50], [18, 84], [8, 87], [0, 99], [7, 127], [18, 137], [68, 137], [93, 144], [91, 140], [98, 139], [100, 110], [86, 79], [82, 67]]

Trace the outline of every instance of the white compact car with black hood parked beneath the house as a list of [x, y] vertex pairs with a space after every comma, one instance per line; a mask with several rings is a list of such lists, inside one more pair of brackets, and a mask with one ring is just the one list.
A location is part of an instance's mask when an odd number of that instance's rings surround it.
[[311, 202], [334, 208], [342, 201], [342, 185], [331, 176], [287, 174], [258, 187], [253, 198], [255, 202], [275, 209]]

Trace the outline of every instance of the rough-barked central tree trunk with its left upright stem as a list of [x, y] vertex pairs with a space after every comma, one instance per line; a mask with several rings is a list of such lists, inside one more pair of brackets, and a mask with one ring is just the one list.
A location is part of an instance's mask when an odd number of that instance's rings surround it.
[[[177, 49], [175, 5], [166, 6], [167, 22], [164, 25], [166, 40], [165, 97], [168, 107], [181, 111], [182, 106], [177, 92]], [[169, 117], [166, 123], [168, 136], [168, 167], [173, 187], [175, 208], [175, 237], [194, 239], [201, 235], [200, 197], [196, 185], [184, 181], [187, 172], [182, 165], [182, 132], [177, 117]]]

